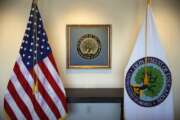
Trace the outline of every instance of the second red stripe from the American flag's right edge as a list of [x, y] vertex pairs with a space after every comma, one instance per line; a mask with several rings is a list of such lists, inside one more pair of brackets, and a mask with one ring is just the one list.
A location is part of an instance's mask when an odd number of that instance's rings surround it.
[[39, 62], [38, 64], [39, 64], [43, 74], [45, 75], [46, 79], [49, 81], [49, 83], [51, 84], [55, 93], [58, 95], [59, 99], [61, 100], [65, 111], [67, 112], [67, 103], [66, 103], [66, 97], [65, 97], [64, 93], [61, 91], [59, 86], [56, 84], [55, 80], [53, 79], [53, 77], [52, 77], [51, 73], [49, 72], [49, 70], [47, 69], [46, 65], [43, 62]]

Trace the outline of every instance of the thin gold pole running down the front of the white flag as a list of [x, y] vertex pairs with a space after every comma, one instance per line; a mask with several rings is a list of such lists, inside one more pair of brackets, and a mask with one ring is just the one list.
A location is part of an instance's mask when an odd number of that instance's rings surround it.
[[147, 74], [147, 40], [148, 40], [148, 8], [150, 7], [151, 0], [147, 0], [146, 5], [146, 23], [145, 23], [145, 70], [144, 70], [144, 86], [147, 86], [149, 84], [149, 78]]

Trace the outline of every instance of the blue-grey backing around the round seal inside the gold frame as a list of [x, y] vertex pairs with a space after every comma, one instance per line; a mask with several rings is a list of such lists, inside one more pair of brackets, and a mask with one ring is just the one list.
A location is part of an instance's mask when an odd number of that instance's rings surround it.
[[[97, 36], [101, 42], [101, 52], [95, 59], [83, 59], [77, 51], [78, 40], [85, 34], [93, 34]], [[76, 27], [71, 29], [71, 65], [107, 65], [108, 64], [108, 31], [105, 27], [99, 28], [83, 28]]]

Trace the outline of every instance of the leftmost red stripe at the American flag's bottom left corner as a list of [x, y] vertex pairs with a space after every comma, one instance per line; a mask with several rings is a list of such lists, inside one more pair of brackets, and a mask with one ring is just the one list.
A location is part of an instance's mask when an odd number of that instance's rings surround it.
[[7, 103], [6, 99], [4, 99], [4, 109], [5, 109], [5, 112], [8, 115], [8, 117], [11, 118], [11, 120], [17, 120], [16, 115], [14, 114], [13, 110], [11, 109], [9, 104]]

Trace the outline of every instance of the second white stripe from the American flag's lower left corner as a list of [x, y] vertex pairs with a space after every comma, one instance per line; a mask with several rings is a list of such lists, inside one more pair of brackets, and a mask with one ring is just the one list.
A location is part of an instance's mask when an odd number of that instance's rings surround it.
[[32, 118], [34, 120], [39, 120], [38, 115], [36, 114], [36, 112], [34, 111], [33, 108], [33, 104], [29, 98], [29, 96], [26, 94], [26, 92], [24, 91], [23, 87], [21, 86], [21, 84], [19, 83], [19, 80], [17, 79], [15, 73], [12, 73], [11, 76], [11, 82], [14, 85], [19, 97], [21, 98], [21, 100], [26, 104], [26, 106], [28, 107], [28, 110], [32, 116]]

